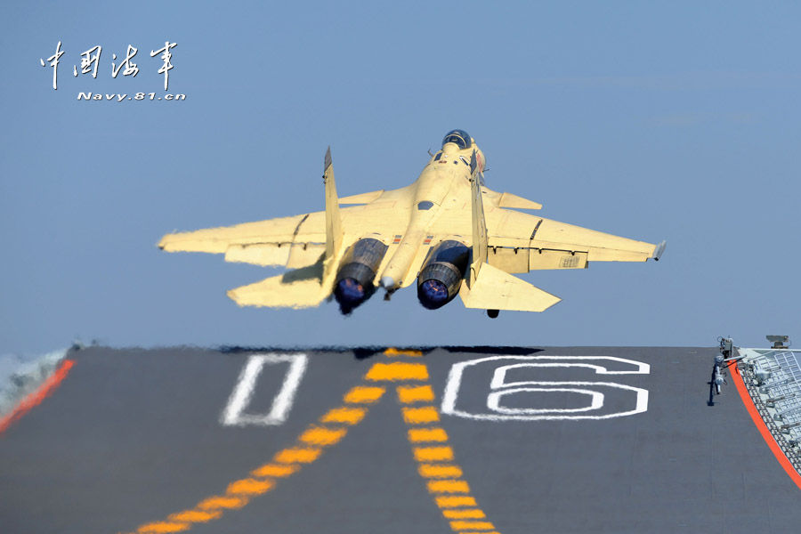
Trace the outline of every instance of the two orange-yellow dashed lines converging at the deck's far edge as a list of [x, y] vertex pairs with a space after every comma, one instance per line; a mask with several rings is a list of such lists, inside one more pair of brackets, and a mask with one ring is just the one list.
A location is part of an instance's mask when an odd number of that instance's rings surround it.
[[[422, 356], [419, 351], [387, 349], [387, 358]], [[255, 364], [252, 364], [255, 366]], [[249, 371], [255, 375], [254, 368]], [[243, 371], [242, 376], [247, 373]], [[277, 451], [270, 462], [256, 467], [246, 478], [231, 481], [222, 495], [213, 495], [201, 500], [196, 506], [170, 514], [165, 521], [148, 522], [135, 530], [137, 534], [165, 534], [190, 530], [192, 525], [221, 518], [226, 511], [246, 506], [251, 498], [272, 491], [279, 479], [299, 472], [304, 465], [317, 461], [326, 449], [336, 445], [345, 437], [348, 429], [358, 425], [367, 415], [368, 408], [380, 401], [386, 388], [381, 384], [417, 382], [396, 385], [401, 415], [408, 428], [408, 441], [418, 464], [418, 473], [434, 502], [441, 509], [443, 518], [451, 530], [465, 534], [465, 530], [493, 530], [485, 519], [486, 514], [478, 508], [475, 498], [469, 495], [470, 487], [461, 479], [462, 469], [453, 464], [453, 449], [448, 445], [448, 434], [439, 426], [439, 412], [432, 405], [406, 406], [417, 402], [433, 402], [434, 394], [428, 384], [429, 373], [425, 363], [391, 360], [376, 361], [362, 378], [362, 384], [344, 393], [343, 404], [329, 409], [315, 423], [308, 425], [295, 439], [295, 443]], [[393, 384], [394, 385], [394, 384]], [[240, 394], [241, 397], [246, 395]], [[247, 401], [247, 399], [246, 399]], [[245, 402], [241, 402], [245, 405]], [[429, 425], [429, 426], [417, 426]], [[453, 495], [457, 494], [457, 495]], [[498, 533], [494, 533], [498, 534]]]

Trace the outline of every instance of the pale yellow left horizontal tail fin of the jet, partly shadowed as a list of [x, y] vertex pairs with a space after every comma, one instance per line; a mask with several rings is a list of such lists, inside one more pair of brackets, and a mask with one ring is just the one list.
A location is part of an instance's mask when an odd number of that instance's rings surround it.
[[268, 308], [312, 308], [328, 296], [322, 287], [322, 264], [287, 271], [248, 286], [237, 287], [228, 296], [240, 306]]

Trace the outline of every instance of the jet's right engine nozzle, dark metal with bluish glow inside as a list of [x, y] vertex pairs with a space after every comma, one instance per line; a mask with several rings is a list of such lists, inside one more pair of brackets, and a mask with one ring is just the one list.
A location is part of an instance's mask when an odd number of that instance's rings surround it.
[[465, 278], [469, 259], [470, 248], [452, 239], [433, 249], [417, 276], [417, 298], [424, 308], [436, 310], [453, 300]]

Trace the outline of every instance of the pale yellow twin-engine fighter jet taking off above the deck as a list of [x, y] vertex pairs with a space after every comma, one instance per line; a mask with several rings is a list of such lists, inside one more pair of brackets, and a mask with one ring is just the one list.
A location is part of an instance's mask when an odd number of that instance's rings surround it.
[[334, 298], [344, 314], [378, 287], [389, 300], [416, 281], [429, 310], [459, 295], [490, 317], [499, 310], [543, 312], [561, 299], [513, 274], [659, 260], [664, 241], [651, 245], [517, 211], [542, 206], [485, 187], [485, 162], [475, 140], [453, 130], [416, 182], [339, 198], [329, 147], [325, 211], [168, 234], [158, 247], [287, 268], [229, 291], [240, 306], [307, 308]]

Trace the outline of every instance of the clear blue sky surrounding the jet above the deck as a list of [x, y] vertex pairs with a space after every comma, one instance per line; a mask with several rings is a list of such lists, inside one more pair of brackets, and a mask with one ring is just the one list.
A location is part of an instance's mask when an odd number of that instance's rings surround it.
[[[0, 7], [0, 352], [117, 346], [710, 345], [801, 336], [801, 8], [792, 3], [198, 3]], [[40, 59], [61, 40], [59, 88]], [[185, 101], [77, 101], [165, 93]], [[102, 46], [96, 79], [73, 77]], [[111, 53], [139, 49], [137, 77]], [[464, 128], [494, 190], [658, 242], [659, 263], [523, 278], [562, 297], [489, 320], [413, 290], [341, 317], [239, 308], [276, 274], [166, 255], [168, 231], [401, 187]]]

